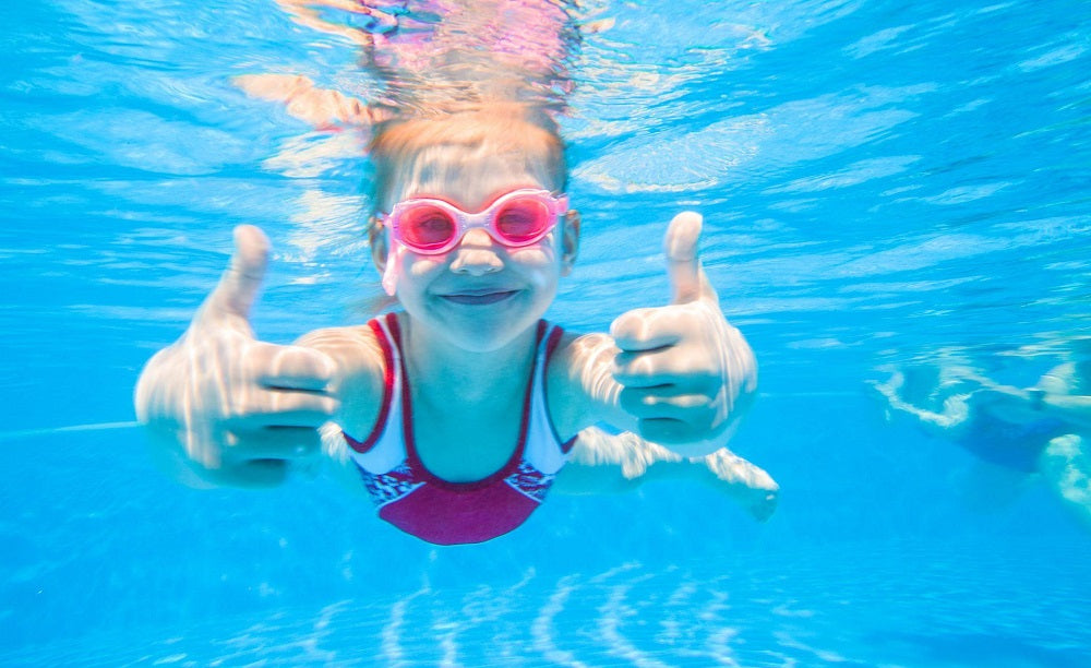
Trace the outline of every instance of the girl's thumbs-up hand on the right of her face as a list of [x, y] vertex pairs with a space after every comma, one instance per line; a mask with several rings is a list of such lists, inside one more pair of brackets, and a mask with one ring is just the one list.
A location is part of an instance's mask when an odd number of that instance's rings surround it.
[[642, 438], [686, 456], [722, 448], [757, 386], [754, 354], [700, 266], [700, 215], [685, 212], [667, 229], [671, 303], [634, 309], [610, 326], [620, 407]]

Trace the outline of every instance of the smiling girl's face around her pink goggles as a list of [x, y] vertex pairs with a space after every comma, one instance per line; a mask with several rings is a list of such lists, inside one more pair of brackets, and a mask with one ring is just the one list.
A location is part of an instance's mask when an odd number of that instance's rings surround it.
[[[381, 202], [383, 211], [408, 198], [432, 196], [478, 212], [513, 190], [553, 189], [544, 160], [538, 165], [525, 155], [445, 145], [417, 154], [404, 167]], [[396, 295], [415, 326], [466, 350], [496, 350], [535, 326], [553, 302], [560, 277], [571, 270], [579, 229], [574, 215], [566, 218], [523, 248], [507, 248], [472, 228], [441, 255], [404, 247], [393, 248], [392, 255], [388, 232], [372, 250], [381, 272], [386, 262], [400, 263]]]

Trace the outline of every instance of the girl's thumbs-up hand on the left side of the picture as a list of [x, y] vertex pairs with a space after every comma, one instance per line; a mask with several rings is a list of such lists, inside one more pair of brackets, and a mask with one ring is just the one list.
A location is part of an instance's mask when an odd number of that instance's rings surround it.
[[188, 474], [195, 474], [212, 484], [277, 484], [290, 461], [319, 452], [317, 428], [337, 409], [329, 356], [253, 336], [249, 314], [268, 250], [259, 228], [236, 228], [219, 284], [185, 335], [141, 374], [137, 417], [184, 481], [194, 482]]

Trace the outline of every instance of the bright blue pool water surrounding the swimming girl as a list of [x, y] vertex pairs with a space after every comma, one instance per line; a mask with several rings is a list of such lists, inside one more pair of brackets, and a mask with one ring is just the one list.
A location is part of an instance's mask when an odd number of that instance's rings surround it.
[[982, 499], [972, 456], [867, 384], [954, 350], [1028, 385], [1091, 330], [1091, 4], [582, 11], [615, 22], [575, 62], [585, 236], [551, 317], [666, 300], [664, 224], [699, 208], [762, 366], [732, 448], [777, 514], [662, 482], [436, 549], [324, 478], [166, 479], [132, 386], [232, 225], [275, 244], [267, 339], [360, 322], [379, 291], [359, 138], [229, 77], [371, 84], [273, 2], [8, 3], [0, 664], [1091, 665], [1091, 527], [1040, 480]]

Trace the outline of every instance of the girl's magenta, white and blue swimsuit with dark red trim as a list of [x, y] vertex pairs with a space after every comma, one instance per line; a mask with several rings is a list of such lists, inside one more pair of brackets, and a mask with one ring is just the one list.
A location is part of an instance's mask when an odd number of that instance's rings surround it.
[[397, 318], [389, 313], [368, 325], [386, 363], [383, 405], [363, 441], [343, 433], [379, 516], [436, 545], [482, 542], [523, 524], [546, 499], [576, 441], [575, 437], [561, 441], [546, 402], [546, 367], [561, 329], [538, 323], [519, 439], [507, 463], [481, 480], [452, 482], [428, 470], [417, 454]]

